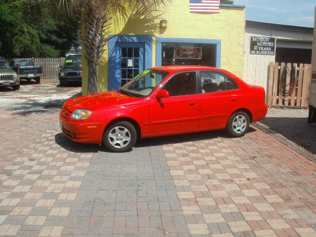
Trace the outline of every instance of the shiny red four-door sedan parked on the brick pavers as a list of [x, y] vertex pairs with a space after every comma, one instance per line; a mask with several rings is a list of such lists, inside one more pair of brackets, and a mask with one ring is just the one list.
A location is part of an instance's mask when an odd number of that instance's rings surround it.
[[165, 66], [145, 70], [118, 90], [68, 100], [62, 131], [73, 141], [113, 152], [139, 138], [223, 129], [234, 137], [266, 117], [263, 87], [211, 67]]

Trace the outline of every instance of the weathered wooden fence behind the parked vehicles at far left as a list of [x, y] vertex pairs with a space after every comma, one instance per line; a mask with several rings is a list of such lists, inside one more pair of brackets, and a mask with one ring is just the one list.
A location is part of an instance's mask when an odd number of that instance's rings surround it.
[[34, 61], [35, 65], [40, 65], [43, 68], [42, 79], [58, 78], [59, 66], [64, 65], [65, 58], [6, 58], [8, 64], [13, 60], [28, 60]]

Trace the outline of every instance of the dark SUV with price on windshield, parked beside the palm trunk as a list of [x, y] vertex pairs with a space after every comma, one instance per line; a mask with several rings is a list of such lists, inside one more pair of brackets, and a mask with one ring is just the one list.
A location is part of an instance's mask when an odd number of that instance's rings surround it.
[[67, 82], [81, 83], [81, 55], [70, 55], [65, 59], [64, 67], [58, 73], [60, 86]]

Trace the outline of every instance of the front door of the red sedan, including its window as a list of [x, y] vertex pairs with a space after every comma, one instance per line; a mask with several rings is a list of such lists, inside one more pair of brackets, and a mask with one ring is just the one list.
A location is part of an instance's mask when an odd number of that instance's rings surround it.
[[149, 102], [150, 134], [197, 129], [201, 108], [197, 87], [196, 72], [172, 76], [162, 87], [170, 96], [161, 99], [154, 96]]

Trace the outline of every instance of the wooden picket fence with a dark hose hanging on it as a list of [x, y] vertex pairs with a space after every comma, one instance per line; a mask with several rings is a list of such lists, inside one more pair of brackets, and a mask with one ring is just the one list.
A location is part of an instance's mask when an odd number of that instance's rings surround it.
[[[312, 65], [275, 63], [269, 66], [268, 106], [307, 107]], [[295, 81], [295, 83], [294, 83]]]

